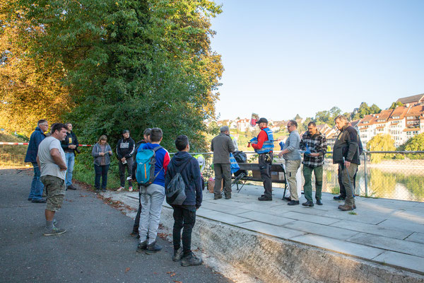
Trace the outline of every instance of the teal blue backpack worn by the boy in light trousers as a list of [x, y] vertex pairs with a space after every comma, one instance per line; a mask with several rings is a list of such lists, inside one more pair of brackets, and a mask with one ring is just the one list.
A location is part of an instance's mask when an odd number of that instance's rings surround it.
[[[163, 149], [162, 146], [156, 146], [154, 149], [141, 149], [136, 154], [136, 180], [139, 185], [147, 187], [151, 185], [160, 171], [155, 175], [156, 151]], [[160, 168], [162, 170], [162, 168]]]

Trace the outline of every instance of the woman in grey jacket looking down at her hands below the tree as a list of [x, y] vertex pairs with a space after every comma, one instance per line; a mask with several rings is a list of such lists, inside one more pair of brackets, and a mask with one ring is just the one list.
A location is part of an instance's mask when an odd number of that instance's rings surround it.
[[95, 191], [100, 192], [100, 177], [102, 177], [102, 192], [106, 192], [107, 171], [109, 171], [112, 148], [107, 143], [107, 137], [104, 134], [100, 136], [97, 144], [93, 146], [91, 155], [94, 157]]

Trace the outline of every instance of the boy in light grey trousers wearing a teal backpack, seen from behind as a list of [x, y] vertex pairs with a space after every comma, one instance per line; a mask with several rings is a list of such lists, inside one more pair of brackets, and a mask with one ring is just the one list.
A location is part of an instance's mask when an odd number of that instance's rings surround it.
[[162, 250], [156, 243], [160, 212], [165, 199], [165, 173], [170, 163], [170, 154], [160, 146], [163, 132], [160, 128], [151, 130], [151, 142], [141, 144], [136, 155], [136, 180], [140, 187], [140, 243], [137, 252], [146, 254]]

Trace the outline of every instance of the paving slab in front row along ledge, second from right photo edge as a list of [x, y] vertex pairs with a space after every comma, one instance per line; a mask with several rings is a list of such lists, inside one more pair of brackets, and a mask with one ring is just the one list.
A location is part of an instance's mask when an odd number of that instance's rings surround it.
[[290, 238], [291, 241], [298, 243], [306, 243], [310, 246], [332, 250], [343, 255], [355, 255], [359, 258], [372, 259], [380, 255], [384, 250], [360, 245], [358, 243], [348, 243], [346, 241], [337, 240], [318, 235], [303, 235]]

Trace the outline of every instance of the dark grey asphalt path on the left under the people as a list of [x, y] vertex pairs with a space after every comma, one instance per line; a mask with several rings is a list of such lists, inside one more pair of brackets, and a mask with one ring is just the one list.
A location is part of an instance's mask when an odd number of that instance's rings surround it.
[[172, 243], [136, 253], [134, 221], [88, 190], [68, 190], [55, 218], [67, 229], [42, 236], [45, 204], [28, 202], [31, 170], [0, 170], [0, 282], [232, 282], [206, 265], [173, 262]]

